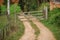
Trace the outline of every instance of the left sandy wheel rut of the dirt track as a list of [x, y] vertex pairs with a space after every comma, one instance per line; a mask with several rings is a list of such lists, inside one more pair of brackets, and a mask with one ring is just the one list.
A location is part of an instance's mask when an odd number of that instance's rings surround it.
[[25, 26], [24, 35], [19, 40], [35, 40], [34, 30], [32, 29], [29, 21], [24, 16], [19, 16], [19, 18]]

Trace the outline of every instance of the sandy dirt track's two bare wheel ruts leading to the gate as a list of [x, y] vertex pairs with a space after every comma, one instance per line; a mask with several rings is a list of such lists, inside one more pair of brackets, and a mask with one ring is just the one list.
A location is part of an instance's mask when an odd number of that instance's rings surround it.
[[[34, 30], [32, 29], [28, 19], [24, 16], [20, 16], [21, 21], [25, 26], [25, 34], [19, 40], [35, 40]], [[36, 18], [30, 18], [34, 24], [40, 29], [40, 35], [38, 36], [38, 40], [56, 40], [52, 34], [52, 32], [46, 28], [41, 22], [39, 22]]]

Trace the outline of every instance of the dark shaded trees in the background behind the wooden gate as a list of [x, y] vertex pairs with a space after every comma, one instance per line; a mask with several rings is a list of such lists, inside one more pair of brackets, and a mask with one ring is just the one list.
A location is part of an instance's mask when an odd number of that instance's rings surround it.
[[19, 0], [19, 5], [23, 11], [32, 11], [37, 9], [43, 2], [49, 2], [49, 0]]

